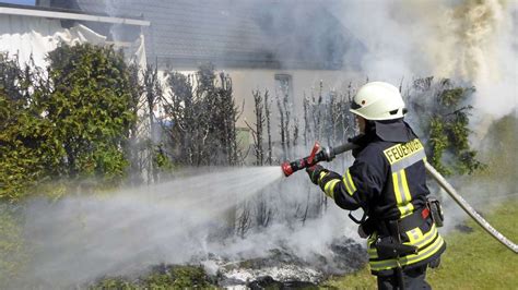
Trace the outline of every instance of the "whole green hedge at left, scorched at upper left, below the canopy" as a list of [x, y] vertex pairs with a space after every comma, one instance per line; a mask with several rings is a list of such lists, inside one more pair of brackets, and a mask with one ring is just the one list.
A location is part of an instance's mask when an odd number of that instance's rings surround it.
[[[0, 56], [0, 198], [17, 201], [40, 181], [96, 178], [117, 184], [137, 121], [122, 53], [63, 45], [47, 70]], [[99, 183], [99, 184], [101, 184]]]

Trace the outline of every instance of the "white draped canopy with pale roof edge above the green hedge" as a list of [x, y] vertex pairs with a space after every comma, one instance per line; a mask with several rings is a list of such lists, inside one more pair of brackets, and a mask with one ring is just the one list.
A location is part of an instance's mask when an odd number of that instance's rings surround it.
[[[113, 24], [142, 27], [149, 26], [150, 22], [54, 7], [0, 3], [0, 51], [17, 56], [21, 63], [32, 59], [36, 65], [44, 67], [47, 52], [63, 43], [114, 44], [125, 47], [128, 55], [142, 50], [139, 50], [142, 44], [138, 34], [129, 43], [117, 43], [90, 28]], [[140, 58], [145, 57], [141, 53]]]

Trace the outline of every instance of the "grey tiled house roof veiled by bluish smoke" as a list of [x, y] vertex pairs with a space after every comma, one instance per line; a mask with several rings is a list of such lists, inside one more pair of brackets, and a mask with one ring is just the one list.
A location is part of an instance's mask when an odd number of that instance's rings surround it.
[[163, 67], [210, 61], [219, 68], [338, 70], [346, 51], [362, 46], [319, 1], [74, 1], [87, 13], [150, 21], [143, 29], [148, 60]]

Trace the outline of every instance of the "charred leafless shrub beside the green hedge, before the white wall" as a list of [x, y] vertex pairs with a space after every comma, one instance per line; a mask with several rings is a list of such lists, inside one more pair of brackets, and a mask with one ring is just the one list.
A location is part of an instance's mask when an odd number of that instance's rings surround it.
[[235, 123], [239, 117], [228, 75], [212, 64], [196, 74], [169, 73], [170, 100], [165, 112], [174, 162], [189, 166], [237, 165]]

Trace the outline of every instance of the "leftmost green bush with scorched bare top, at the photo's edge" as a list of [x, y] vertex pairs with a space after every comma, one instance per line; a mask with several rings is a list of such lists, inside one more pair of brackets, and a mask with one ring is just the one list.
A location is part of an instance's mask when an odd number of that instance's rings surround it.
[[0, 200], [19, 201], [28, 186], [58, 172], [63, 150], [55, 124], [44, 118], [43, 73], [0, 55]]

